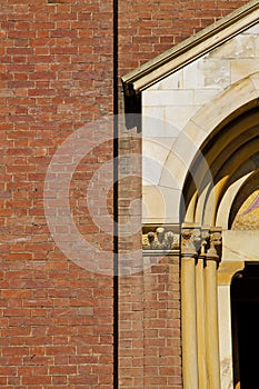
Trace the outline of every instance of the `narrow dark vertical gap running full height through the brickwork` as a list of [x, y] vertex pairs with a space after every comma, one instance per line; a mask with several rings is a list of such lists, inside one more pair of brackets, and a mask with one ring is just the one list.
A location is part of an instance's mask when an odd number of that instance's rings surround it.
[[118, 0], [113, 0], [113, 388], [119, 382], [119, 275], [118, 275]]

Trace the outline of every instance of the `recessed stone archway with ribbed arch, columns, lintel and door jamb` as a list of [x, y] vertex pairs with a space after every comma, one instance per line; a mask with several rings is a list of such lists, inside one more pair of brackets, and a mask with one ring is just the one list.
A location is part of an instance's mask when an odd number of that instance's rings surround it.
[[[230, 283], [232, 276], [243, 268], [247, 257], [258, 260], [258, 255], [252, 253], [257, 229], [249, 238], [249, 231], [235, 230], [235, 226], [240, 219], [238, 205], [240, 207], [240, 199], [243, 200], [243, 188], [250, 193], [251, 190], [247, 189], [249, 180], [258, 182], [258, 107], [241, 114], [236, 112], [235, 119], [215, 129], [200, 147], [183, 186], [186, 223], [181, 233], [181, 279], [185, 388], [233, 387]], [[223, 205], [226, 197], [228, 201]], [[231, 223], [230, 228], [233, 229], [229, 230]], [[240, 241], [243, 246], [241, 250]], [[250, 243], [250, 251], [246, 248], [246, 241]]]

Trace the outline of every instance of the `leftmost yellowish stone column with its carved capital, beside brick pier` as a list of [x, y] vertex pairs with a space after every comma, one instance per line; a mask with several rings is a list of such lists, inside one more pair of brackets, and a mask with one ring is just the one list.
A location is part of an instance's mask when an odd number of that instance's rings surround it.
[[181, 231], [181, 307], [182, 376], [185, 389], [198, 389], [196, 260], [200, 230], [183, 227]]

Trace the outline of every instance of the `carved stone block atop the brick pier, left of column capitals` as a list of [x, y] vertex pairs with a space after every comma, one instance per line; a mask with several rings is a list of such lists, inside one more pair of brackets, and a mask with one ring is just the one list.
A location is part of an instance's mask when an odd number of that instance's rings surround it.
[[142, 235], [143, 250], [170, 251], [179, 249], [179, 233], [170, 230], [170, 226], [150, 226], [152, 230]]

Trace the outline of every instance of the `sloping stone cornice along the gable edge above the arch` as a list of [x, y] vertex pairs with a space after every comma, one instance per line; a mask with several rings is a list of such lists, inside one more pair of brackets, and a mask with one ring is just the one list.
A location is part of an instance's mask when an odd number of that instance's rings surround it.
[[253, 26], [258, 20], [259, 0], [252, 0], [153, 60], [123, 76], [126, 113], [133, 113], [131, 109], [135, 107], [133, 100], [139, 100], [138, 96], [142, 90]]

